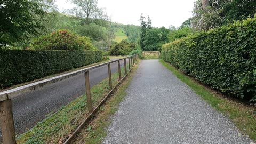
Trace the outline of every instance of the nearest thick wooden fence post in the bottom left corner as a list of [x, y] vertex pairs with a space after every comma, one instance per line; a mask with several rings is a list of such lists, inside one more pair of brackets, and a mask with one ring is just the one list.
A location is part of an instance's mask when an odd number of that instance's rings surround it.
[[12, 100], [0, 102], [0, 123], [4, 144], [15, 144], [15, 128], [12, 113]]

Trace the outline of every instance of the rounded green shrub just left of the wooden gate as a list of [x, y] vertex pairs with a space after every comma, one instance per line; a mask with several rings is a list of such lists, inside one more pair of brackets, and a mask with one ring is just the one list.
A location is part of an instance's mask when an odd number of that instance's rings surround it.
[[135, 43], [123, 40], [110, 50], [110, 55], [128, 55], [132, 50], [135, 50], [135, 47]]

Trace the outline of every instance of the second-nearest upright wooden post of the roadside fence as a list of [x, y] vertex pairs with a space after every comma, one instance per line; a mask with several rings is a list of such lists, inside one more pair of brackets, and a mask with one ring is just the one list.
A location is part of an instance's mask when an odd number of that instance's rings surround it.
[[92, 98], [91, 98], [91, 90], [90, 90], [90, 81], [89, 81], [89, 71], [84, 73], [85, 78], [85, 89], [86, 89], [86, 97], [87, 97], [87, 107], [89, 109], [89, 113], [92, 113]]

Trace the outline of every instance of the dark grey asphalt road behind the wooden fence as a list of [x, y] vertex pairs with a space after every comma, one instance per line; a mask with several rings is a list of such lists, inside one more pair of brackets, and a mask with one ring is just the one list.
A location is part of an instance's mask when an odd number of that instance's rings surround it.
[[[128, 61], [127, 67], [128, 67]], [[121, 67], [124, 60], [121, 61]], [[117, 62], [111, 63], [111, 73], [117, 71]], [[89, 71], [90, 86], [98, 84], [108, 77], [107, 66]], [[85, 93], [84, 74], [70, 77], [12, 99], [16, 133], [22, 133], [33, 127], [46, 115], [67, 105]]]

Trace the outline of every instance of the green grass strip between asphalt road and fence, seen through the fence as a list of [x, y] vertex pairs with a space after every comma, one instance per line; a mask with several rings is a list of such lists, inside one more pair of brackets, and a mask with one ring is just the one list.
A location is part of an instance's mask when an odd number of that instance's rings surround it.
[[[124, 76], [124, 68], [121, 70]], [[113, 86], [118, 83], [118, 73], [112, 74]], [[91, 88], [92, 102], [95, 106], [109, 92], [108, 78]], [[61, 143], [72, 133], [88, 115], [86, 94], [60, 108], [39, 122], [33, 129], [17, 137], [17, 143]]]

